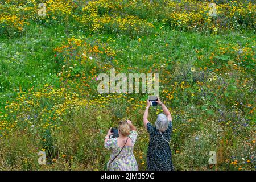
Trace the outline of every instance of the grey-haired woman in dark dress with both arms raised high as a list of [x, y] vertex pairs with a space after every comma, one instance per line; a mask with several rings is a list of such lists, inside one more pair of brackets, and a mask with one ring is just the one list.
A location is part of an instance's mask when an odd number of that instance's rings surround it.
[[148, 121], [148, 110], [150, 101], [147, 100], [147, 107], [144, 111], [144, 127], [150, 134], [150, 142], [147, 151], [147, 169], [150, 171], [172, 171], [172, 154], [170, 140], [172, 133], [172, 116], [167, 107], [158, 98], [158, 105], [162, 106], [163, 113], [159, 114], [155, 126]]

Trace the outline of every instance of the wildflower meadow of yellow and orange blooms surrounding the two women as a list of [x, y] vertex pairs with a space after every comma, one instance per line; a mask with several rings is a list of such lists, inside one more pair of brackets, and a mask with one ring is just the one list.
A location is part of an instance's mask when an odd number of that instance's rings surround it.
[[[148, 94], [99, 93], [110, 69], [159, 74], [175, 170], [255, 170], [255, 10], [250, 0], [0, 0], [0, 170], [104, 170], [104, 137], [121, 119], [137, 127], [146, 170]], [[151, 123], [159, 113], [150, 107]]]

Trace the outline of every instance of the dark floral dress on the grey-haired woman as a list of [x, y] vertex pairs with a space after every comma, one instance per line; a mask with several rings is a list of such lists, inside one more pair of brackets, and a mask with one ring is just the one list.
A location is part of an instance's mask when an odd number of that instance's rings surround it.
[[172, 122], [170, 121], [167, 130], [160, 134], [156, 127], [147, 123], [147, 131], [150, 134], [150, 142], [147, 150], [147, 170], [150, 171], [172, 171], [172, 154], [170, 142], [172, 133]]

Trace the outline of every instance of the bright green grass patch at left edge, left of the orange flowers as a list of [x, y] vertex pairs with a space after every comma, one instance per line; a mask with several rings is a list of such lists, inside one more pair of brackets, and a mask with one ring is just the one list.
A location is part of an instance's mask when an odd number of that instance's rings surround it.
[[1, 38], [1, 107], [6, 100], [15, 98], [20, 88], [27, 92], [32, 87], [40, 89], [45, 83], [59, 87], [56, 74], [60, 64], [53, 49], [72, 35], [79, 35], [79, 31], [69, 35], [62, 26], [31, 24], [23, 36]]

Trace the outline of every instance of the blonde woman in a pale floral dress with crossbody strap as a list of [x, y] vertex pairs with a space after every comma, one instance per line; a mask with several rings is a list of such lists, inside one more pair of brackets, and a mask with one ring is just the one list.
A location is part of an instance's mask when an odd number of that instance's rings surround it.
[[136, 127], [130, 120], [120, 121], [117, 138], [109, 138], [111, 128], [105, 137], [105, 148], [111, 150], [107, 168], [110, 171], [137, 171], [138, 164], [133, 154], [134, 144], [137, 139]]

